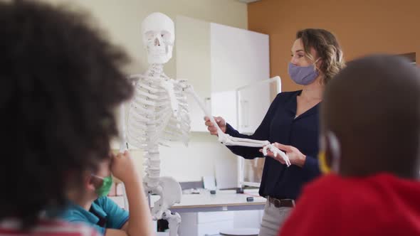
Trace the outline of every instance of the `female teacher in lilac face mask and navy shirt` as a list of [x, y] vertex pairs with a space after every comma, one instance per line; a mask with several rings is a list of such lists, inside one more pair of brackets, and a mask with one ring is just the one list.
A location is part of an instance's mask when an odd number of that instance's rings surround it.
[[[332, 33], [307, 28], [296, 33], [288, 65], [290, 78], [303, 90], [281, 92], [273, 102], [256, 132], [240, 134], [221, 117], [215, 117], [223, 132], [231, 136], [268, 140], [285, 151], [292, 165], [283, 159], [267, 156], [261, 179], [260, 195], [267, 198], [260, 236], [277, 235], [279, 227], [295, 205], [305, 183], [320, 174], [317, 161], [319, 107], [328, 81], [345, 66], [340, 44]], [[216, 127], [206, 117], [206, 126], [216, 135]], [[245, 159], [261, 157], [261, 149], [228, 146]]]

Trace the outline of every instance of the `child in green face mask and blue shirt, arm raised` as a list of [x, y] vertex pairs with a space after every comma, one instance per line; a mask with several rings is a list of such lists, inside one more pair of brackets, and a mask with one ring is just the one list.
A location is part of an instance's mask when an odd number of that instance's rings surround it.
[[[130, 214], [107, 198], [112, 176], [125, 184]], [[138, 222], [149, 216], [149, 207], [142, 190], [142, 179], [128, 151], [110, 156], [98, 165], [97, 170], [86, 173], [83, 188], [87, 192], [83, 198], [68, 193], [70, 203], [60, 214], [63, 220], [91, 225], [105, 236], [142, 235]]]

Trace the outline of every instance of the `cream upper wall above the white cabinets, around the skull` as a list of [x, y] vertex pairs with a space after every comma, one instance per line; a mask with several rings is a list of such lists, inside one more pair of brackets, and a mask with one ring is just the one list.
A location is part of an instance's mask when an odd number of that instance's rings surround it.
[[[140, 25], [154, 11], [167, 14], [175, 21], [177, 15], [189, 16], [222, 23], [238, 28], [247, 28], [247, 8], [236, 0], [44, 0], [54, 4], [68, 4], [87, 9], [100, 26], [109, 33], [115, 43], [121, 45], [132, 56], [128, 73], [139, 73], [147, 69], [146, 55], [142, 48]], [[174, 57], [175, 58], [175, 55]], [[165, 73], [176, 75], [175, 60], [165, 66]]]

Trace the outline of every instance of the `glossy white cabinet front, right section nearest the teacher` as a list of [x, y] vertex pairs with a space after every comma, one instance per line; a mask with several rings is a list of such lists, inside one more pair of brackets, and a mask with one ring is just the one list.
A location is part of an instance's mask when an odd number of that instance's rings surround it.
[[210, 48], [211, 111], [240, 132], [251, 133], [270, 105], [270, 87], [246, 88], [241, 91], [241, 101], [236, 101], [235, 91], [270, 77], [268, 35], [211, 23]]

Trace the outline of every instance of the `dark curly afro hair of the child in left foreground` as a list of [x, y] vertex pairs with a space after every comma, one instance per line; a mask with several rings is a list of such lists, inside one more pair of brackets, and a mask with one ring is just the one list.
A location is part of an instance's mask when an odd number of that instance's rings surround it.
[[0, 220], [32, 226], [110, 153], [114, 109], [133, 92], [120, 70], [128, 58], [87, 22], [36, 1], [0, 2]]

